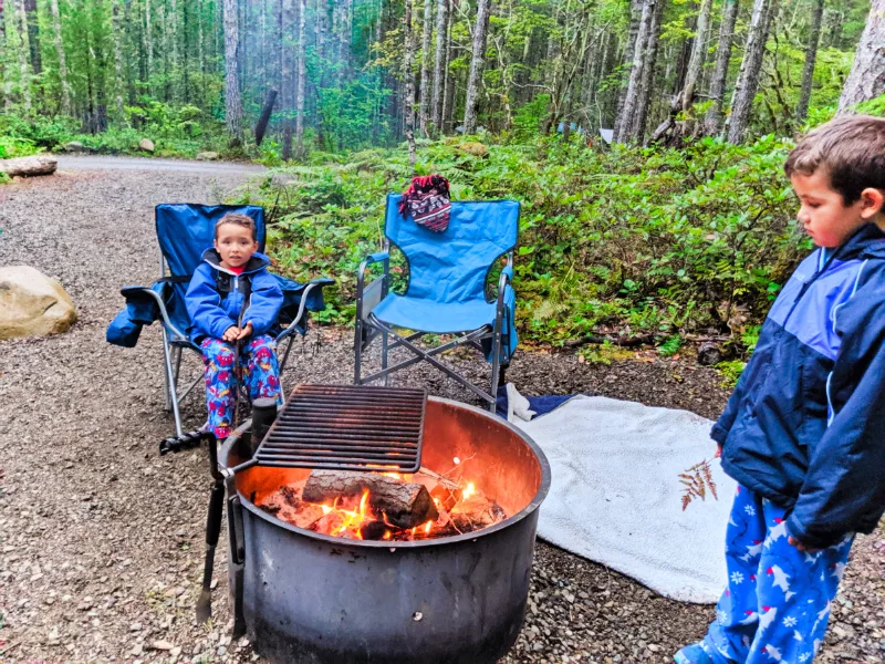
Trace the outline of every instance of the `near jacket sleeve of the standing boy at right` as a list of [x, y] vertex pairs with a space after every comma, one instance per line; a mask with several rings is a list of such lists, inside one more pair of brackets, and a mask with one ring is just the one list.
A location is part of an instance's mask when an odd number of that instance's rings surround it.
[[867, 286], [836, 313], [842, 343], [827, 381], [831, 422], [810, 450], [787, 520], [788, 532], [812, 548], [871, 532], [885, 510], [885, 279]]

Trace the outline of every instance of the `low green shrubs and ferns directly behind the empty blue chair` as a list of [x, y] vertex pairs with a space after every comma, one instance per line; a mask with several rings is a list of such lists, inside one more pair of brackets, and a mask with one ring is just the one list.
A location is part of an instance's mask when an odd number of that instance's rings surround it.
[[[456, 200], [522, 203], [514, 270], [523, 339], [559, 344], [616, 329], [650, 333], [667, 355], [684, 333], [723, 330], [737, 311], [751, 324], [761, 320], [809, 247], [794, 229], [781, 170], [789, 142], [705, 138], [678, 151], [601, 153], [579, 138], [490, 144], [487, 158], [455, 142], [418, 153], [418, 173], [449, 178]], [[279, 193], [270, 251], [296, 278], [334, 277], [329, 318], [350, 322], [356, 267], [381, 247], [384, 197], [405, 189], [407, 154], [315, 154], [311, 162], [281, 169], [290, 181]], [[277, 197], [270, 177], [250, 194], [268, 208]], [[395, 252], [400, 287], [406, 270]]]

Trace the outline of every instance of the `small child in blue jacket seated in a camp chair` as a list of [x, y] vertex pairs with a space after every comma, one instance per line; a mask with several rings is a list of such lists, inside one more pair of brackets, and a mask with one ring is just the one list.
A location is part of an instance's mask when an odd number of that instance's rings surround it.
[[185, 300], [190, 339], [202, 349], [206, 364], [207, 428], [223, 439], [230, 435], [236, 408], [236, 343], [247, 340], [240, 364], [250, 398], [280, 398], [280, 370], [268, 331], [280, 313], [283, 293], [268, 272], [270, 260], [258, 252], [256, 225], [248, 215], [219, 219], [215, 249], [208, 249], [202, 260]]

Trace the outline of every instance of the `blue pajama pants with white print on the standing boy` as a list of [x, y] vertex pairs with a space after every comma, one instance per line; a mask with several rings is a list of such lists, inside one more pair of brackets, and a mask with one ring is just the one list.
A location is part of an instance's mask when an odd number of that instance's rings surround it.
[[704, 641], [677, 664], [809, 664], [818, 654], [830, 604], [854, 536], [804, 553], [790, 544], [787, 513], [738, 486], [726, 536], [728, 588]]

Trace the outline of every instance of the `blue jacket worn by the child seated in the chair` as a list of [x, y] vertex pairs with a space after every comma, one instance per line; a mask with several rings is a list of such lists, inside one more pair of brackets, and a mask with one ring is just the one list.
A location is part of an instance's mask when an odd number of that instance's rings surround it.
[[[253, 253], [239, 277], [221, 267], [221, 257], [215, 249], [208, 249], [202, 261], [194, 271], [185, 295], [191, 341], [199, 344], [207, 336], [221, 339], [228, 328], [237, 324], [244, 304], [243, 326], [252, 323], [254, 336], [267, 334], [283, 304], [283, 291], [267, 269], [270, 259]], [[219, 290], [219, 282], [226, 283], [228, 292]]]

